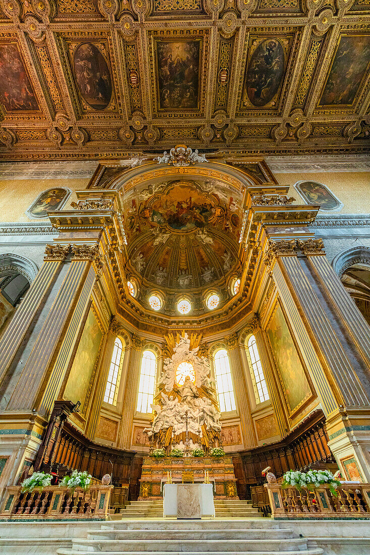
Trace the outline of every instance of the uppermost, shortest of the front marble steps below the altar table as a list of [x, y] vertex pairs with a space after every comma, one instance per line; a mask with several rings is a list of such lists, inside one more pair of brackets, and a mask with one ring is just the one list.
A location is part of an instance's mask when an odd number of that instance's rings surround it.
[[[258, 513], [261, 514], [261, 513]], [[252, 528], [266, 528], [269, 530], [279, 529], [279, 523], [268, 518], [249, 519], [241, 518], [239, 520], [231, 519], [229, 516], [224, 520], [192, 520], [191, 529], [194, 530], [249, 530]], [[125, 519], [124, 521], [105, 522], [100, 529], [104, 530], [178, 530], [186, 529], [189, 531], [188, 520], [159, 519], [150, 522], [138, 521], [135, 518]]]

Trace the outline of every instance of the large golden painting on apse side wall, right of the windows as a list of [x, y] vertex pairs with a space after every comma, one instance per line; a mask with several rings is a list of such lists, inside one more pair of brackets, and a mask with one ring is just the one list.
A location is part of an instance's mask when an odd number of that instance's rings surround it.
[[304, 398], [310, 395], [311, 390], [279, 304], [271, 319], [267, 334], [275, 355], [289, 407], [293, 411], [294, 408], [302, 403]]

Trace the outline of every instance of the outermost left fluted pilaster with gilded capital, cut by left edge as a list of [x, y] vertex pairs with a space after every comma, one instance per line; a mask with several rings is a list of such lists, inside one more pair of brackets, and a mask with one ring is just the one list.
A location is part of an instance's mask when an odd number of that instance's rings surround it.
[[69, 245], [46, 245], [44, 262], [0, 339], [0, 384], [6, 377], [34, 316], [48, 295], [68, 251]]

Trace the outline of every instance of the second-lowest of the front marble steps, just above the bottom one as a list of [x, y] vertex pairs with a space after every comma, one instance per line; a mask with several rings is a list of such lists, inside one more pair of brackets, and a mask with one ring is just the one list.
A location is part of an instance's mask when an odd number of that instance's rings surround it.
[[[187, 534], [188, 538], [192, 532]], [[306, 538], [284, 538], [274, 539], [267, 535], [264, 539], [73, 539], [72, 549], [76, 551], [90, 552], [119, 552], [126, 551], [136, 553], [147, 551], [156, 553], [163, 552], [189, 552], [189, 553], [217, 553], [217, 551], [229, 552], [281, 552], [281, 551], [304, 551], [307, 550]]]

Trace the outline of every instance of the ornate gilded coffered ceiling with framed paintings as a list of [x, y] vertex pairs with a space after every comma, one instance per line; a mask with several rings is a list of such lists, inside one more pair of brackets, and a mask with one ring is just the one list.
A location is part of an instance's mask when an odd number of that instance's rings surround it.
[[370, 0], [0, 0], [0, 157], [369, 151]]

